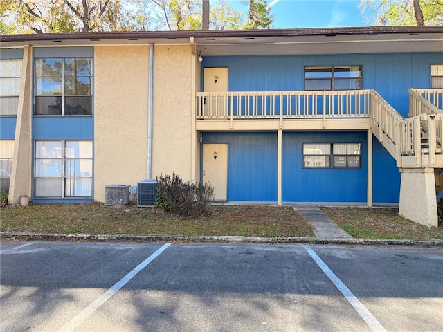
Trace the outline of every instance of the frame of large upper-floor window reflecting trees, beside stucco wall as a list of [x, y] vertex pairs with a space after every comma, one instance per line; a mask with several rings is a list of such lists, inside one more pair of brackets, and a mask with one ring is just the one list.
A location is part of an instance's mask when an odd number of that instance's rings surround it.
[[[37, 71], [39, 66], [37, 66], [37, 62], [39, 62], [39, 60], [42, 59], [46, 59], [46, 60], [60, 60], [60, 62], [62, 63], [62, 68], [61, 68], [61, 76], [60, 76], [60, 80], [61, 80], [61, 86], [60, 86], [60, 93], [52, 93], [52, 94], [47, 94], [44, 93], [44, 88], [42, 88], [42, 92], [39, 91], [39, 85], [43, 86], [44, 84], [44, 79], [48, 79], [50, 80], [51, 78], [59, 78], [59, 76], [46, 76], [44, 75], [44, 71], [42, 71], [41, 74], [37, 75]], [[89, 74], [90, 75], [68, 75], [67, 71], [66, 71], [66, 62], [71, 60], [71, 62], [76, 62], [78, 59], [85, 59], [87, 62], [89, 62]], [[78, 56], [78, 57], [71, 57], [71, 56], [60, 56], [60, 57], [35, 57], [34, 58], [34, 70], [33, 70], [33, 116], [57, 116], [57, 117], [64, 117], [64, 116], [93, 116], [93, 57], [91, 56]], [[74, 78], [84, 78], [86, 80], [89, 80], [89, 92], [90, 94], [73, 94], [73, 93], [67, 93], [66, 92], [66, 82], [68, 80], [73, 80]], [[77, 83], [75, 81], [75, 83]], [[50, 113], [50, 111], [48, 110], [48, 113], [43, 113], [43, 109], [44, 109], [44, 103], [42, 103], [42, 113], [37, 113], [37, 111], [39, 110], [39, 107], [37, 107], [37, 104], [39, 104], [40, 102], [37, 102], [37, 98], [40, 98], [42, 100], [44, 100], [43, 98], [45, 97], [52, 97], [52, 98], [56, 98], [57, 101], [54, 101], [53, 104], [49, 105], [48, 104], [48, 109], [49, 107], [54, 107], [55, 111], [57, 111], [57, 109], [60, 107], [60, 113]], [[58, 98], [61, 98], [61, 101], [58, 101]], [[75, 107], [72, 107], [72, 109], [77, 109], [78, 113], [68, 113], [67, 112], [67, 105], [68, 103], [66, 102], [66, 100], [68, 98], [89, 98], [89, 106], [91, 108], [90, 113], [88, 113], [88, 110], [85, 109], [84, 107], [82, 107], [82, 104], [78, 104]], [[85, 113], [80, 113], [81, 109], [84, 109]]]

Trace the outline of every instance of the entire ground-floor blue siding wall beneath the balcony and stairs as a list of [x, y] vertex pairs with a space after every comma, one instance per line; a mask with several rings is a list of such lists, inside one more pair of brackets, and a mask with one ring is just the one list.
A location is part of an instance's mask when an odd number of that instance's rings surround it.
[[[277, 201], [277, 133], [204, 133], [205, 143], [228, 144], [228, 200]], [[303, 143], [361, 143], [361, 167], [303, 168]], [[367, 133], [284, 132], [282, 201], [365, 203], [368, 187]], [[374, 203], [398, 203], [395, 161], [374, 140]]]

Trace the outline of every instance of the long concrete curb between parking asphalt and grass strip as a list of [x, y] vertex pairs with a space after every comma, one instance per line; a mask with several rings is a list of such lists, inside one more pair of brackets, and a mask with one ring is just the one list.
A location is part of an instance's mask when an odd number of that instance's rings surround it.
[[127, 234], [36, 234], [26, 232], [0, 232], [0, 239], [21, 241], [97, 241], [97, 242], [245, 242], [245, 243], [309, 243], [385, 246], [443, 246], [443, 240], [395, 240], [395, 239], [341, 239], [316, 237], [180, 237], [174, 235]]

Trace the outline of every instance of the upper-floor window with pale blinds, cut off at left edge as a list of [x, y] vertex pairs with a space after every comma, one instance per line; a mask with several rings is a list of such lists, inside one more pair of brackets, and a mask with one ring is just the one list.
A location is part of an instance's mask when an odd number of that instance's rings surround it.
[[0, 116], [17, 116], [21, 59], [0, 60]]

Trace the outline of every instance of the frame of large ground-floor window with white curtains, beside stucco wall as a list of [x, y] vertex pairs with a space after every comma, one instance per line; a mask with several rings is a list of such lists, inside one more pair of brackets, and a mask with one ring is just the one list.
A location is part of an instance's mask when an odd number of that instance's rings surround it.
[[[56, 143], [61, 143], [62, 145], [62, 150], [61, 150], [61, 158], [37, 158], [37, 144], [39, 142], [56, 142]], [[91, 144], [91, 158], [69, 158], [66, 155], [66, 150], [69, 149], [69, 147], [66, 147], [67, 143], [72, 143], [72, 142], [89, 142]], [[58, 148], [55, 148], [58, 149]], [[37, 167], [39, 164], [40, 160], [60, 160], [60, 164], [61, 164], [61, 171], [60, 171], [60, 176], [57, 176], [57, 174], [55, 174], [55, 176], [37, 176]], [[68, 168], [67, 167], [67, 163], [68, 162], [72, 162], [75, 160], [91, 160], [91, 172], [89, 174], [89, 176], [72, 176], [72, 173], [68, 174]], [[70, 168], [71, 172], [72, 169]], [[37, 195], [37, 180], [38, 179], [61, 179], [60, 185], [60, 192], [61, 195], [60, 196], [44, 196], [44, 195]], [[78, 179], [90, 179], [91, 184], [89, 187], [89, 195], [87, 196], [75, 196], [75, 195], [69, 195], [66, 194], [66, 183], [68, 181], [72, 181], [72, 180], [78, 180]], [[33, 197], [38, 198], [38, 199], [45, 199], [45, 198], [53, 198], [53, 199], [91, 199], [93, 196], [93, 140], [35, 140], [34, 141], [34, 158], [33, 158]]]

